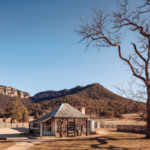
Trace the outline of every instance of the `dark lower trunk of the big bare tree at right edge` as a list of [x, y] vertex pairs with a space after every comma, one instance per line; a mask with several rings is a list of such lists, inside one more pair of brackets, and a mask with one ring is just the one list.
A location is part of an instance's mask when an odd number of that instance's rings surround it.
[[147, 87], [147, 131], [146, 138], [150, 138], [150, 86]]

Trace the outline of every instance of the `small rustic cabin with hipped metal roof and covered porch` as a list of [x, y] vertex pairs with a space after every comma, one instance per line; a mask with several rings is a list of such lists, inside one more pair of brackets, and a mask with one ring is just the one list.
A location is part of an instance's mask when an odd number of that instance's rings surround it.
[[69, 137], [88, 135], [88, 117], [68, 103], [29, 122], [29, 134], [34, 136]]

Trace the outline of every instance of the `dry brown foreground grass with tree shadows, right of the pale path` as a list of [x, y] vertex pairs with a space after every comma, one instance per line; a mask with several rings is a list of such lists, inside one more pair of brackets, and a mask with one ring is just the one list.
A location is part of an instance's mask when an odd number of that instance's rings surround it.
[[[103, 129], [102, 131], [105, 130], [106, 129]], [[47, 141], [36, 144], [28, 150], [51, 149], [150, 150], [150, 140], [145, 139], [144, 134], [123, 133], [109, 130], [109, 133], [104, 136]]]

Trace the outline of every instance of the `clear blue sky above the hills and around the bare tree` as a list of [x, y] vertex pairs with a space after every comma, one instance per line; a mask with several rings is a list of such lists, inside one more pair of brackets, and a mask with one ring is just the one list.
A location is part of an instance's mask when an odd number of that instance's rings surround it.
[[[134, 4], [134, 0], [131, 4]], [[80, 18], [91, 8], [116, 10], [115, 0], [7, 0], [0, 1], [0, 85], [14, 87], [33, 96], [46, 90], [62, 90], [100, 83], [116, 92], [113, 85], [131, 73], [119, 59], [117, 48], [93, 47], [85, 52], [81, 37], [74, 33]], [[128, 38], [123, 54], [132, 49]]]

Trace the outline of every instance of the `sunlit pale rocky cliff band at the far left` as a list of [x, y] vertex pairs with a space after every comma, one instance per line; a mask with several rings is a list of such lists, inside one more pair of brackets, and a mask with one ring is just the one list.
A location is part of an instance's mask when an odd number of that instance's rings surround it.
[[26, 92], [19, 91], [17, 89], [14, 89], [12, 87], [6, 87], [0, 85], [0, 93], [10, 96], [10, 97], [20, 97], [20, 98], [29, 98], [30, 94]]

